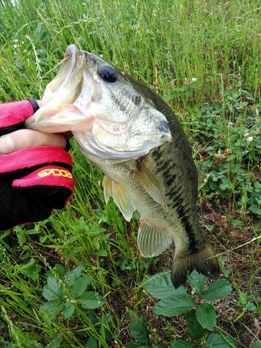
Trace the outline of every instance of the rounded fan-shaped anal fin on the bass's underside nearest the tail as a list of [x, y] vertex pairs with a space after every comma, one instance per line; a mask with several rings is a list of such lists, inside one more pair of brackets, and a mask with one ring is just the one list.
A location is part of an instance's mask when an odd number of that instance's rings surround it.
[[148, 221], [141, 219], [137, 244], [145, 258], [152, 258], [163, 253], [171, 246], [171, 243], [172, 238], [166, 230], [152, 226]]

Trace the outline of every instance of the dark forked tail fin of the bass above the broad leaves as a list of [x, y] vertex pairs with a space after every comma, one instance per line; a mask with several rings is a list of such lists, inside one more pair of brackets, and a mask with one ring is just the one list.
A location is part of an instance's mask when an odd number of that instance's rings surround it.
[[208, 242], [203, 244], [198, 253], [184, 255], [175, 251], [171, 280], [176, 289], [187, 280], [187, 274], [191, 273], [193, 269], [204, 276], [220, 273], [219, 262]]

